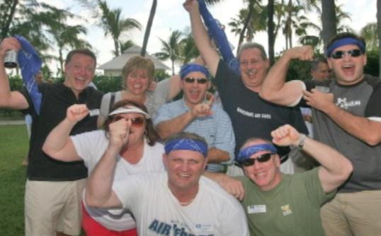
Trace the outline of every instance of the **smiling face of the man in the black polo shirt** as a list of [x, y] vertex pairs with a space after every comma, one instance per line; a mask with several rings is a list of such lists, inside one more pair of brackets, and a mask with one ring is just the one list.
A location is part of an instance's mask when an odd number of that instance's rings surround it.
[[93, 80], [96, 61], [85, 54], [73, 54], [65, 66], [64, 85], [72, 88], [76, 96], [81, 93]]

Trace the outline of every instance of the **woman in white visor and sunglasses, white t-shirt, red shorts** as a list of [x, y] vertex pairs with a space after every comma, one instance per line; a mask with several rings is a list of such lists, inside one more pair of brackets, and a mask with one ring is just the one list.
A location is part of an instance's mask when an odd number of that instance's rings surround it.
[[[114, 181], [140, 172], [164, 171], [164, 146], [152, 125], [146, 107], [139, 102], [121, 100], [108, 115], [104, 130], [69, 136], [72, 127], [89, 114], [86, 105], [72, 105], [67, 117], [53, 129], [42, 147], [57, 160], [84, 161], [89, 173], [115, 139], [128, 137], [118, 156]], [[116, 138], [115, 138], [116, 137]], [[117, 143], [118, 144], [118, 143]], [[84, 205], [82, 220], [86, 235], [137, 235], [135, 220], [119, 209], [90, 208]]]

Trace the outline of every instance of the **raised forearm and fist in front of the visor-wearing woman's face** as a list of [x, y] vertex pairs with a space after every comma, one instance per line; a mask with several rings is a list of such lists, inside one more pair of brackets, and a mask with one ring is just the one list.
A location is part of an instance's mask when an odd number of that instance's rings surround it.
[[113, 191], [115, 167], [120, 151], [128, 142], [131, 120], [110, 123], [108, 147], [91, 172], [86, 185], [85, 201], [93, 207], [122, 207]]

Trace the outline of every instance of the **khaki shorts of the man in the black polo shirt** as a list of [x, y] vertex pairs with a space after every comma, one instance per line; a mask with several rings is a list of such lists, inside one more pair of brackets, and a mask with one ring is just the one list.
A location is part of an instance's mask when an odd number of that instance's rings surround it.
[[52, 182], [27, 180], [25, 235], [53, 236], [81, 233], [81, 199], [86, 179]]

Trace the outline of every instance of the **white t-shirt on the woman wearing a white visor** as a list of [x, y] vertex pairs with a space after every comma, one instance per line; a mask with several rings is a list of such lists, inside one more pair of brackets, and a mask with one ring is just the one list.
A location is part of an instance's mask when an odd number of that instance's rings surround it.
[[[108, 138], [105, 131], [97, 130], [71, 136], [76, 153], [84, 160], [84, 164], [88, 168], [89, 175], [108, 146]], [[162, 155], [164, 146], [161, 143], [156, 143], [154, 146], [149, 146], [144, 143], [143, 157], [139, 163], [134, 165], [128, 163], [123, 158], [118, 158], [115, 168], [114, 181], [125, 179], [129, 175], [134, 175], [141, 172], [162, 172], [164, 164]], [[91, 208], [86, 206], [86, 211], [89, 215], [101, 225], [110, 230], [130, 230], [136, 227], [135, 220], [125, 209], [108, 210], [105, 208]]]

